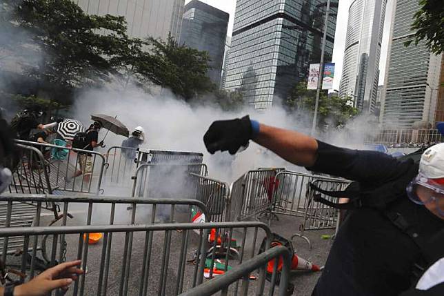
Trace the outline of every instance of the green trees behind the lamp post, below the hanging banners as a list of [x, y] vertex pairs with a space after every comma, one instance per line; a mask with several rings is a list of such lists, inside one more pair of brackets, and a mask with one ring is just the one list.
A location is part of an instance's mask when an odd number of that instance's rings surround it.
[[[289, 112], [314, 112], [315, 103], [316, 90], [307, 90], [307, 81], [300, 81], [292, 88], [283, 105]], [[351, 97], [328, 96], [321, 92], [318, 107], [319, 125], [342, 126], [358, 113], [352, 105]]]

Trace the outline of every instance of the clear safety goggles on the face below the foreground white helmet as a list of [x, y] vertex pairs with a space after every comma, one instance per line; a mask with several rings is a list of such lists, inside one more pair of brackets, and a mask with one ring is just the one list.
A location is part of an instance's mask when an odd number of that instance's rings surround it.
[[[430, 189], [431, 195], [427, 198], [427, 200], [423, 201], [416, 194], [416, 187], [418, 185]], [[407, 186], [407, 196], [415, 204], [422, 206], [425, 204], [431, 204], [433, 202], [436, 203], [436, 210], [438, 214], [444, 217], [444, 203], [439, 202], [441, 199], [444, 199], [443, 179], [429, 179], [420, 173], [415, 179], [413, 179], [413, 181], [410, 182], [409, 186]]]

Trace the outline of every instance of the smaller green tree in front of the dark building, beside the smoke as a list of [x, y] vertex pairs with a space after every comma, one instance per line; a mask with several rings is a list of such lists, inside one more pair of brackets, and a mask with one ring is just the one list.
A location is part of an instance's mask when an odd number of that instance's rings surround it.
[[141, 79], [170, 88], [185, 101], [215, 89], [207, 76], [208, 52], [180, 46], [171, 36], [166, 41], [149, 38], [148, 46], [149, 52], [134, 66], [134, 72]]

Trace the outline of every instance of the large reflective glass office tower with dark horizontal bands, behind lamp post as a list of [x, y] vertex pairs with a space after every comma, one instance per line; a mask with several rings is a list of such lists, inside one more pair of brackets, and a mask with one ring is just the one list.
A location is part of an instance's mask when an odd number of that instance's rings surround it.
[[[286, 99], [321, 59], [326, 2], [237, 0], [225, 89], [240, 90], [256, 109]], [[332, 0], [325, 62], [332, 59], [336, 16]]]

